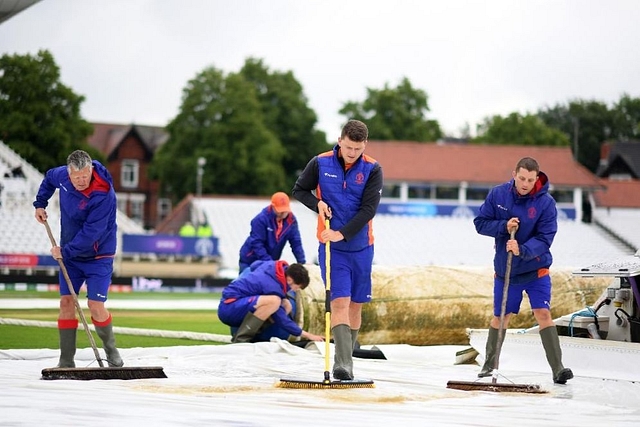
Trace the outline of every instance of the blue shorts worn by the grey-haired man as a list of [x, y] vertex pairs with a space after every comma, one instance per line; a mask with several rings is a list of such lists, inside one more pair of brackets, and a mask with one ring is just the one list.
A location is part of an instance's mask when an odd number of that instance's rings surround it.
[[[64, 266], [69, 273], [73, 290], [76, 295], [80, 293], [83, 283], [87, 284], [87, 298], [92, 301], [107, 300], [111, 276], [113, 275], [113, 258], [100, 258], [86, 261], [64, 260]], [[71, 295], [62, 269], [58, 274], [60, 280], [60, 295]]]

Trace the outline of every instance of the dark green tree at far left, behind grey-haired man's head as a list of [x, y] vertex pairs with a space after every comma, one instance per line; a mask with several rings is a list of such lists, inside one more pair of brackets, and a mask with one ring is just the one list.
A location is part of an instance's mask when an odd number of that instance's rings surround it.
[[46, 50], [0, 57], [0, 140], [40, 171], [66, 164], [75, 149], [90, 148], [93, 129], [80, 116], [84, 96], [60, 82], [60, 69]]

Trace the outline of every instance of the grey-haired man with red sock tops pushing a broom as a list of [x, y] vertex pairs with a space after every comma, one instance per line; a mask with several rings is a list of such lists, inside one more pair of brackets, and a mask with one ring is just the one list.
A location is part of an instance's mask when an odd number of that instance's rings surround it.
[[[33, 206], [40, 223], [47, 220], [49, 199], [58, 190], [60, 195], [60, 246], [51, 248], [51, 255], [64, 262], [76, 295], [83, 283], [87, 285], [91, 321], [102, 339], [109, 366], [122, 366], [116, 348], [111, 313], [104, 306], [111, 285], [113, 258], [116, 253], [116, 194], [107, 168], [89, 154], [76, 150], [67, 157], [67, 165], [47, 171], [40, 184]], [[76, 318], [73, 295], [63, 272], [60, 280], [61, 368], [75, 367]]]

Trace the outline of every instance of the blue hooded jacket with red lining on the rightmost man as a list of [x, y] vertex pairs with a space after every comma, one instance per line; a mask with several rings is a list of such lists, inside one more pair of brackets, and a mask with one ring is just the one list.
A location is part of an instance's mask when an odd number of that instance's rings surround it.
[[520, 220], [515, 236], [520, 255], [512, 259], [511, 282], [526, 283], [553, 262], [550, 248], [558, 231], [558, 212], [546, 174], [538, 173], [533, 190], [525, 196], [518, 194], [513, 179], [492, 188], [473, 220], [479, 234], [495, 239], [493, 267], [501, 278], [507, 269], [507, 221], [514, 217]]

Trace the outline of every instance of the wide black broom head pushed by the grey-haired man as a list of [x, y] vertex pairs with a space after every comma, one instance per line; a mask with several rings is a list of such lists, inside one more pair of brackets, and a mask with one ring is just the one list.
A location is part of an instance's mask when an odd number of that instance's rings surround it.
[[43, 380], [141, 380], [167, 378], [159, 366], [147, 367], [100, 367], [100, 368], [46, 368]]

